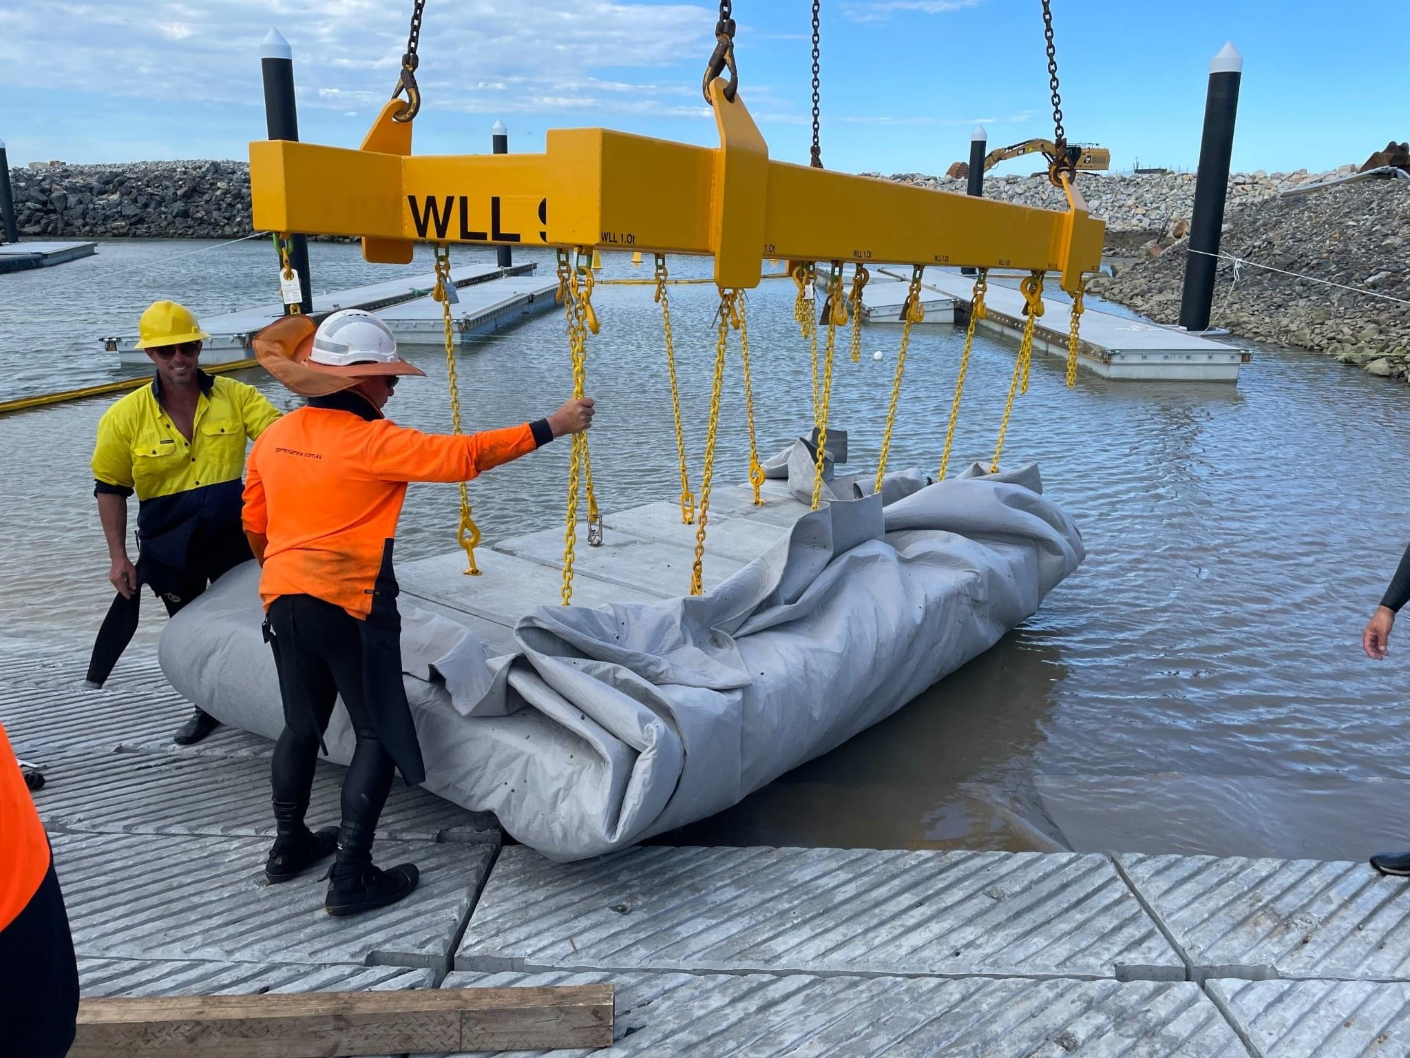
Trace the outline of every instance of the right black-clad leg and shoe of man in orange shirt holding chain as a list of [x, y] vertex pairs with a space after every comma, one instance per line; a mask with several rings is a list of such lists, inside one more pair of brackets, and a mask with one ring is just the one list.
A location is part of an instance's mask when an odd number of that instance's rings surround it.
[[324, 907], [334, 916], [357, 914], [407, 896], [416, 887], [420, 873], [413, 863], [402, 863], [389, 870], [372, 865], [372, 838], [392, 789], [395, 766], [376, 736], [376, 725], [364, 693], [362, 646], [357, 621], [341, 608], [317, 600], [310, 600], [307, 609], [316, 609], [320, 616], [326, 638], [319, 649], [333, 671], [357, 734], [357, 748], [343, 777], [343, 825], [338, 829], [338, 852]]

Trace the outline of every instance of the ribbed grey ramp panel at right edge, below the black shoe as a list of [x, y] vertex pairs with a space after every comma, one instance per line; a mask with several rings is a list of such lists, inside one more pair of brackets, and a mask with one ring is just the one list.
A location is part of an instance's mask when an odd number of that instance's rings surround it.
[[1117, 862], [1194, 980], [1410, 980], [1410, 886], [1366, 863], [1139, 853]]

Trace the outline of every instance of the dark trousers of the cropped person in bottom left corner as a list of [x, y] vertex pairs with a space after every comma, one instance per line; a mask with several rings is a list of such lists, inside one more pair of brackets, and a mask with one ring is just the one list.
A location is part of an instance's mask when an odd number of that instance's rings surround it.
[[51, 863], [25, 908], [0, 930], [0, 1052], [63, 1058], [78, 1010], [73, 935]]

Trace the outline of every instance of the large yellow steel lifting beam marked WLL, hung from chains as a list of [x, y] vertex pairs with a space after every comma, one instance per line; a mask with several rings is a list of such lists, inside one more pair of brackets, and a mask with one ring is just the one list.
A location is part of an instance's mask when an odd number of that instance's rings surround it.
[[757, 286], [764, 258], [1058, 272], [1069, 292], [1097, 271], [1105, 226], [1070, 185], [1056, 212], [773, 161], [722, 89], [718, 148], [557, 128], [543, 154], [413, 157], [393, 100], [361, 150], [251, 142], [254, 224], [361, 236], [369, 261], [417, 240], [709, 254], [726, 289]]

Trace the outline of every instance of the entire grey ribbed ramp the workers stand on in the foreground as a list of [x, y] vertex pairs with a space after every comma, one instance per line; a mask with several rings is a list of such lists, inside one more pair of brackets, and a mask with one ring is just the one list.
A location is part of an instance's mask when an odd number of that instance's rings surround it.
[[[272, 743], [179, 749], [189, 707], [152, 662], [102, 691], [82, 667], [0, 647], [87, 996], [608, 982], [596, 1054], [643, 1058], [1410, 1052], [1410, 883], [1362, 863], [654, 845], [561, 865], [398, 783], [376, 856], [422, 886], [334, 920], [319, 870], [261, 884]], [[340, 779], [319, 766], [314, 825]]]

